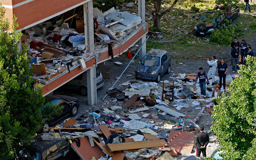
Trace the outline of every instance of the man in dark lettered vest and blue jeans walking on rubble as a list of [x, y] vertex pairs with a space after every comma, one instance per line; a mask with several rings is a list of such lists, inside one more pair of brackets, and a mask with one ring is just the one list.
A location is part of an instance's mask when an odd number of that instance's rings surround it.
[[197, 79], [199, 77], [199, 86], [200, 86], [200, 90], [201, 90], [201, 95], [203, 95], [204, 97], [206, 97], [206, 86], [205, 86], [205, 80], [207, 79], [207, 85], [209, 85], [209, 79], [208, 76], [206, 74], [205, 71], [203, 71], [203, 68], [200, 67], [199, 68], [199, 72], [196, 75], [196, 82], [195, 85], [197, 83]]

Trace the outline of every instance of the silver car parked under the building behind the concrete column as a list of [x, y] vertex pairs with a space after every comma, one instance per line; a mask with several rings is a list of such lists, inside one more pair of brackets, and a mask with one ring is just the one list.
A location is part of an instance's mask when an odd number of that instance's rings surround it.
[[[99, 70], [96, 69], [96, 86], [97, 89], [101, 88], [104, 85], [104, 79]], [[86, 72], [79, 74], [74, 79], [67, 82], [61, 88], [79, 90], [83, 96], [87, 95], [87, 74]]]

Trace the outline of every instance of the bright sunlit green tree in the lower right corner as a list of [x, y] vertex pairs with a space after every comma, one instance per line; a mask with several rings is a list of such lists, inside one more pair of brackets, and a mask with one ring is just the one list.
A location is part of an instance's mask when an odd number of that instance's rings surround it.
[[[240, 65], [229, 85], [229, 95], [214, 98], [211, 130], [216, 134], [225, 151], [223, 160], [256, 159], [256, 58], [248, 56], [248, 67]], [[207, 158], [210, 159], [210, 158]]]

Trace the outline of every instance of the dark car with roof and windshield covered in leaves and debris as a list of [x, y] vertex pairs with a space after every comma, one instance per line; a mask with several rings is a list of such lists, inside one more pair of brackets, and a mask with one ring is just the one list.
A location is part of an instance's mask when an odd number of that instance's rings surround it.
[[223, 12], [205, 11], [198, 19], [194, 27], [194, 35], [205, 36], [212, 34], [213, 29], [220, 29], [225, 25], [225, 15]]

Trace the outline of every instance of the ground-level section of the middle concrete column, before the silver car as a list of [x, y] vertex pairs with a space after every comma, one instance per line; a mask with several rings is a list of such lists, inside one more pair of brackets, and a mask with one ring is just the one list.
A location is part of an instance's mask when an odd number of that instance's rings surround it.
[[87, 96], [88, 96], [88, 105], [94, 105], [96, 104], [95, 95], [94, 95], [94, 88], [95, 88], [95, 80], [94, 80], [94, 74], [95, 68], [91, 67], [86, 71], [87, 74]]

